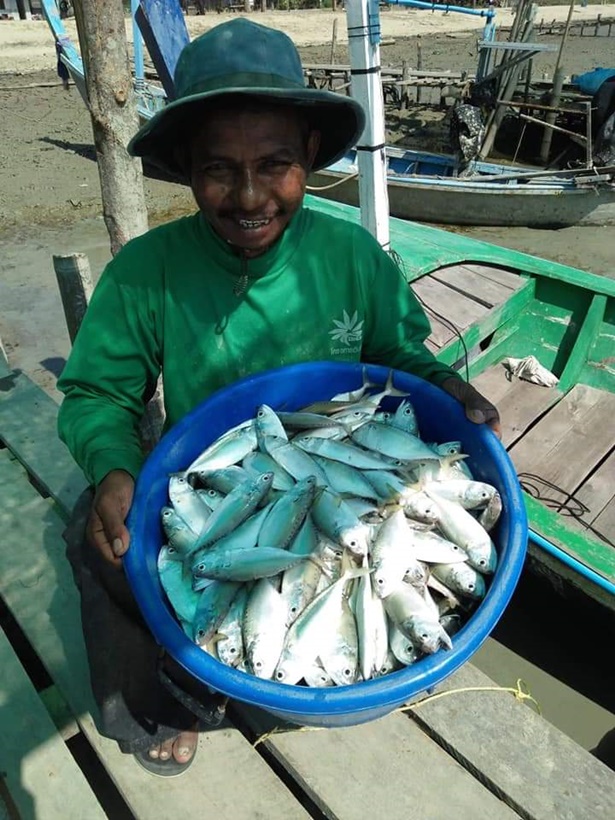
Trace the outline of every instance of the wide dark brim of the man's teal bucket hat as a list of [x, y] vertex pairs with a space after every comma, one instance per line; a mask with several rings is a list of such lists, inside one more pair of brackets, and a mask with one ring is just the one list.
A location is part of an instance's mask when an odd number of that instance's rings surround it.
[[305, 112], [312, 130], [320, 132], [320, 146], [313, 171], [326, 168], [352, 148], [363, 133], [365, 112], [352, 97], [311, 88], [233, 88], [207, 91], [168, 103], [148, 120], [128, 143], [128, 153], [142, 157], [166, 173], [183, 177], [177, 147], [185, 142], [186, 129], [193, 127], [199, 109], [225, 97], [239, 96], [263, 100], [273, 105], [291, 106]]

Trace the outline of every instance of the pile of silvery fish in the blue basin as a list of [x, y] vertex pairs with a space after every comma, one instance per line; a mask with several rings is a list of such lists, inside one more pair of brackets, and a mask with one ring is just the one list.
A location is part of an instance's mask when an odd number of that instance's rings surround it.
[[[161, 584], [186, 634], [260, 678], [352, 684], [451, 649], [497, 563], [501, 511], [459, 442], [425, 443], [392, 374], [298, 412], [262, 405], [161, 511]], [[390, 404], [394, 404], [389, 400]]]

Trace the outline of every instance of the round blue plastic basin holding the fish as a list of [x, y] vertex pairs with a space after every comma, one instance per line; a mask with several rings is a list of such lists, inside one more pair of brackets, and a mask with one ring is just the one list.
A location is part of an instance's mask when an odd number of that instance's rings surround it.
[[[168, 503], [169, 473], [185, 469], [230, 427], [254, 416], [260, 404], [296, 410], [310, 402], [352, 390], [363, 382], [362, 365], [317, 362], [259, 373], [218, 391], [173, 427], [151, 453], [139, 475], [128, 519], [131, 546], [124, 565], [145, 621], [158, 643], [194, 677], [231, 698], [308, 726], [350, 726], [388, 714], [430, 689], [464, 664], [495, 627], [515, 589], [527, 545], [527, 519], [514, 467], [493, 433], [467, 421], [461, 405], [427, 382], [396, 371], [394, 383], [407, 390], [426, 441], [458, 441], [475, 477], [497, 487], [502, 514], [494, 533], [499, 564], [486, 597], [440, 650], [376, 680], [351, 686], [309, 688], [260, 680], [212, 658], [182, 631], [158, 580], [156, 559], [163, 543], [160, 509]], [[387, 368], [368, 366], [370, 381], [384, 384]]]

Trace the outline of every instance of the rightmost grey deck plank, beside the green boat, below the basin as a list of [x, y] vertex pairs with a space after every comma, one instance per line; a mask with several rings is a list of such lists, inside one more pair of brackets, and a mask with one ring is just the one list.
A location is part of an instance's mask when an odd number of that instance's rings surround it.
[[418, 706], [411, 718], [522, 817], [615, 817], [613, 771], [531, 706], [498, 692], [470, 663], [438, 687], [445, 691], [453, 694]]

